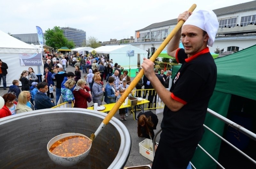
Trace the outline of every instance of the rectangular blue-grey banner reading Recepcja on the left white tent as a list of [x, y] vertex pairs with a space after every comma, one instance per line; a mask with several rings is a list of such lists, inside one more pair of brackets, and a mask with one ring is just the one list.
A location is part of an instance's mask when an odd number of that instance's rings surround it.
[[19, 55], [20, 55], [20, 66], [41, 66], [42, 65], [41, 53], [36, 53], [36, 54], [22, 53]]

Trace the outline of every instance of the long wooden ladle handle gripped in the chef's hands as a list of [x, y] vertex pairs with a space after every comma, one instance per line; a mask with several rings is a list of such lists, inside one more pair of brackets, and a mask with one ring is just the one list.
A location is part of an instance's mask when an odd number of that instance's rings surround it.
[[[193, 12], [196, 8], [196, 4], [193, 4], [190, 8], [189, 8], [189, 12]], [[178, 22], [178, 24], [174, 27], [174, 29], [172, 30], [172, 32], [167, 36], [167, 38], [163, 41], [163, 43], [160, 45], [160, 47], [156, 50], [156, 52], [154, 53], [154, 55], [152, 55], [150, 57], [150, 60], [152, 62], [154, 62], [156, 60], [156, 58], [158, 57], [158, 55], [163, 51], [163, 49], [165, 48], [165, 46], [169, 43], [169, 41], [173, 38], [173, 36], [179, 31], [179, 29], [181, 28], [181, 26], [184, 24], [185, 21], [180, 20]], [[104, 120], [102, 121], [101, 125], [99, 126], [99, 128], [97, 129], [97, 131], [95, 132], [95, 137], [100, 133], [100, 131], [105, 127], [105, 125], [108, 124], [108, 122], [111, 120], [111, 118], [116, 114], [117, 110], [119, 109], [119, 107], [122, 105], [122, 103], [124, 102], [124, 100], [126, 99], [126, 97], [132, 92], [132, 89], [136, 86], [136, 84], [140, 81], [140, 79], [142, 78], [142, 76], [144, 75], [144, 70], [140, 70], [140, 72], [138, 73], [138, 75], [132, 80], [132, 83], [129, 85], [129, 87], [125, 90], [124, 94], [121, 96], [121, 98], [119, 100], [117, 100], [116, 104], [114, 105], [114, 107], [110, 110], [110, 112], [108, 113], [108, 115], [104, 118]], [[105, 124], [105, 125], [104, 125]], [[94, 137], [94, 138], [95, 138]]]

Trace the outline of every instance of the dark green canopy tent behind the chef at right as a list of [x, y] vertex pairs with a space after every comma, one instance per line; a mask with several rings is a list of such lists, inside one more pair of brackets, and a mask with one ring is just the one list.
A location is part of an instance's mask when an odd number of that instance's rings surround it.
[[[255, 105], [255, 51], [256, 45], [224, 57], [216, 58], [214, 60], [217, 65], [217, 82], [208, 105], [210, 109], [224, 117], [227, 117], [230, 109], [233, 106], [236, 107], [236, 105], [231, 105], [232, 96], [252, 99]], [[175, 77], [175, 74], [179, 69], [180, 65], [173, 66], [172, 78]], [[237, 110], [241, 111], [239, 108], [237, 108]], [[214, 130], [220, 136], [223, 136], [225, 124], [222, 121], [212, 117], [210, 114], [207, 114], [204, 124]], [[205, 133], [203, 139], [200, 142], [200, 145], [215, 159], [218, 159], [219, 157], [220, 144], [221, 139], [205, 129]], [[192, 159], [192, 163], [197, 169], [216, 168], [216, 163], [207, 155], [205, 155], [205, 153], [200, 148], [196, 150], [196, 153]]]

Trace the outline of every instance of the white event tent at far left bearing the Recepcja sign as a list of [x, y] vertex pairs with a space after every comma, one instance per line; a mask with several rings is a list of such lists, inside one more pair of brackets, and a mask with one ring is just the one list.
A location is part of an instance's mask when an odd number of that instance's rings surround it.
[[[7, 87], [12, 85], [13, 80], [19, 80], [22, 71], [28, 70], [29, 67], [32, 67], [36, 74], [43, 73], [42, 71], [44, 71], [44, 67], [42, 57], [40, 59], [37, 59], [37, 62], [42, 63], [42, 65], [40, 66], [21, 66], [21, 56], [28, 56], [32, 54], [40, 54], [40, 50], [33, 45], [22, 42], [8, 35], [7, 33], [0, 31], [0, 59], [8, 66], [8, 74], [6, 75]], [[1, 87], [3, 87], [3, 79], [1, 80]]]

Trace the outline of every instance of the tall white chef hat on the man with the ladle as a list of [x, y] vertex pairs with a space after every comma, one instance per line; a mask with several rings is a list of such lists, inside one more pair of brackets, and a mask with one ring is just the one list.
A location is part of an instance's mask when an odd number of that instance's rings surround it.
[[219, 28], [217, 16], [212, 10], [199, 10], [193, 12], [183, 26], [184, 25], [194, 25], [207, 32], [209, 36], [207, 45], [212, 47], [215, 40], [215, 35]]

